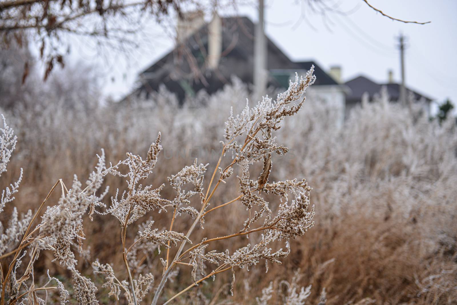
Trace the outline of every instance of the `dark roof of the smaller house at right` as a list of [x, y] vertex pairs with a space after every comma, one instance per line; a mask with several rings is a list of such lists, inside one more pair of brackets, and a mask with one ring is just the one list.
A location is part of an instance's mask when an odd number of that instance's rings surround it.
[[[385, 86], [390, 100], [397, 101], [400, 98], [400, 85], [395, 83], [389, 84], [377, 84], [371, 79], [368, 79], [365, 76], [357, 76], [355, 79], [351, 79], [345, 83], [346, 86], [351, 89], [351, 93], [346, 96], [346, 103], [356, 103], [360, 102], [362, 95], [367, 92], [370, 99], [373, 95], [379, 93], [381, 88]], [[427, 102], [430, 102], [432, 99], [425, 95], [422, 95], [412, 89], [406, 88], [408, 91], [414, 94], [415, 100], [420, 100], [424, 98]]]

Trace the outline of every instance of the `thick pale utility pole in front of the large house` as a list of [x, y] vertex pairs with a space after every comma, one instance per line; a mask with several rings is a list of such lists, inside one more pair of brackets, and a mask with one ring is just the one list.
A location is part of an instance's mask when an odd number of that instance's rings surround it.
[[264, 30], [264, 0], [259, 0], [259, 21], [255, 27], [254, 37], [254, 96], [255, 98], [265, 94], [267, 70], [266, 70], [266, 37]]

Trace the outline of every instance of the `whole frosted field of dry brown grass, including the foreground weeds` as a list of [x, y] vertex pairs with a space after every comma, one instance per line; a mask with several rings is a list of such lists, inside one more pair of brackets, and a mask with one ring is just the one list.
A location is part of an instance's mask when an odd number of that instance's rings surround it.
[[457, 304], [455, 121], [313, 80], [3, 111], [1, 304]]

